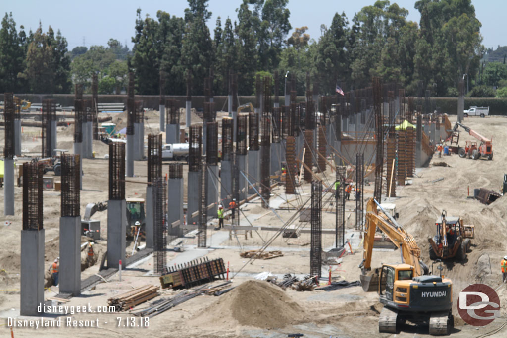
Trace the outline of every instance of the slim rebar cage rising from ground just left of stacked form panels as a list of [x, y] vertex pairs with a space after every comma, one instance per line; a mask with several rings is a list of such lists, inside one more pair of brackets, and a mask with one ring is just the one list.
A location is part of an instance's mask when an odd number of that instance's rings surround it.
[[167, 230], [165, 219], [166, 184], [165, 179], [156, 177], [153, 186], [153, 260], [154, 273], [165, 274], [167, 272]]

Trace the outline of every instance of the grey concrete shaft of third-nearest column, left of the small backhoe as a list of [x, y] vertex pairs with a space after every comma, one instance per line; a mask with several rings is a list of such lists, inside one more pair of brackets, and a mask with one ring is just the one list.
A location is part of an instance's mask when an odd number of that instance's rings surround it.
[[125, 237], [127, 203], [125, 200], [109, 200], [107, 203], [107, 267], [118, 269], [119, 261], [125, 266]]

